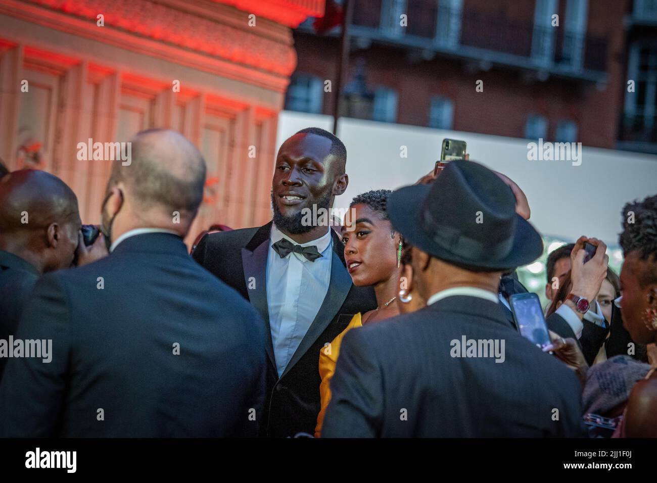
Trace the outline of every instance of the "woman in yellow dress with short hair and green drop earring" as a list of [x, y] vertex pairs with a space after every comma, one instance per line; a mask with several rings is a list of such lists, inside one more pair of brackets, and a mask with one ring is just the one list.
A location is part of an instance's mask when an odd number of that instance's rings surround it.
[[[335, 371], [344, 334], [355, 327], [362, 327], [363, 324], [399, 315], [400, 308], [405, 312], [422, 306], [419, 296], [415, 292], [411, 294], [411, 264], [408, 260], [403, 260], [410, 250], [403, 250], [403, 240], [388, 220], [388, 193], [391, 191], [378, 189], [353, 198], [341, 228], [344, 258], [353, 285], [373, 285], [378, 308], [363, 315], [354, 315], [346, 329], [319, 352], [321, 410], [317, 416], [315, 438], [321, 436], [324, 415], [331, 397], [330, 380]], [[401, 304], [396, 303], [397, 298], [400, 298]]]

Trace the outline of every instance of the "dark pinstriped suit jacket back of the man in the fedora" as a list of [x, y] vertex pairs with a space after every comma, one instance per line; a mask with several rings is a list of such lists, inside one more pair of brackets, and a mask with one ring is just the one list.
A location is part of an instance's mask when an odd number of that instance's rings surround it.
[[[463, 336], [504, 341], [504, 361], [453, 357]], [[331, 391], [322, 437], [583, 434], [574, 373], [482, 298], [451, 296], [348, 332]]]

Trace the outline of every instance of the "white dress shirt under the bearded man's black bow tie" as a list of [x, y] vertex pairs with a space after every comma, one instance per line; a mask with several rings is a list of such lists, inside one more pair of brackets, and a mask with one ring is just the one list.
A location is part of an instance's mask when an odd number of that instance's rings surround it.
[[[283, 238], [301, 246], [315, 245], [322, 256], [314, 262], [295, 252], [281, 258], [273, 249], [273, 244]], [[297, 243], [284, 235], [276, 225], [271, 225], [267, 254], [267, 308], [279, 377], [283, 375], [324, 302], [330, 283], [332, 258], [330, 228], [317, 240]]]

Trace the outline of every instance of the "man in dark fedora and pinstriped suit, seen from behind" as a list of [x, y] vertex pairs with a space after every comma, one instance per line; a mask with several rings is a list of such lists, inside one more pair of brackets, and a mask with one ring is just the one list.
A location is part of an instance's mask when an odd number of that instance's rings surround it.
[[543, 250], [509, 186], [453, 161], [432, 185], [392, 193], [388, 214], [427, 306], [345, 336], [322, 436], [580, 436], [576, 375], [499, 304], [502, 273]]

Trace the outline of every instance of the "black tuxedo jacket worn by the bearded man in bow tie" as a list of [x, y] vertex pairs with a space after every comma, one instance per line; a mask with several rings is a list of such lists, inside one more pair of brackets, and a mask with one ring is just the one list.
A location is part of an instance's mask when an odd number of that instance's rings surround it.
[[198, 243], [194, 258], [250, 300], [265, 321], [267, 402], [261, 436], [286, 437], [298, 432], [313, 434], [320, 409], [319, 350], [346, 328], [353, 314], [376, 308], [376, 297], [373, 288], [355, 287], [351, 283], [344, 262], [344, 245], [331, 230], [333, 260], [328, 292], [306, 336], [279, 378], [267, 308], [270, 232], [271, 221], [259, 228], [211, 233]]

